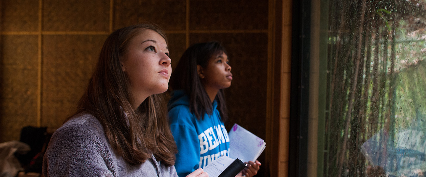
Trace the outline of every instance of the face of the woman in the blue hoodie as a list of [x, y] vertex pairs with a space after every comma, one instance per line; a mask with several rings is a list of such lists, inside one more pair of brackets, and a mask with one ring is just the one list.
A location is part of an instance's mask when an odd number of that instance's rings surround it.
[[201, 82], [206, 90], [219, 90], [231, 86], [232, 73], [228, 62], [226, 53], [220, 53], [212, 56], [207, 67], [201, 69]]

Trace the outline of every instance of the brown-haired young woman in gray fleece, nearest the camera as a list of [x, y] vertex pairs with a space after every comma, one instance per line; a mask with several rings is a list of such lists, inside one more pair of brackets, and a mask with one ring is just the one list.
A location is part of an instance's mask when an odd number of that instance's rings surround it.
[[[110, 34], [78, 110], [49, 142], [43, 175], [176, 177], [176, 144], [161, 95], [170, 62], [156, 25]], [[198, 169], [188, 176], [208, 175]]]

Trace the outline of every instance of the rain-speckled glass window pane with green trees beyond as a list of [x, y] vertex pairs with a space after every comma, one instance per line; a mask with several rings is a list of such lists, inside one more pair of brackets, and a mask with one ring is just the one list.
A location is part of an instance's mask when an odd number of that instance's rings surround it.
[[426, 1], [328, 9], [322, 176], [426, 176]]

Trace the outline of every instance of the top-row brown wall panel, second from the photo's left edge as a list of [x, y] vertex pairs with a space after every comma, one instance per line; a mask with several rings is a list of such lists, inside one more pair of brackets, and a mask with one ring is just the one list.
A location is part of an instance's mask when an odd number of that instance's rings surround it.
[[108, 31], [109, 0], [43, 0], [44, 31]]

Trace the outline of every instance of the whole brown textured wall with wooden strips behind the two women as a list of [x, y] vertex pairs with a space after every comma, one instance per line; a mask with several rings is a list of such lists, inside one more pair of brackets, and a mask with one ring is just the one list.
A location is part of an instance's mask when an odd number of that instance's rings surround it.
[[138, 22], [166, 31], [173, 68], [189, 45], [223, 42], [235, 78], [226, 90], [226, 127], [238, 123], [265, 139], [268, 1], [0, 3], [0, 142], [18, 140], [24, 126], [58, 128], [75, 111], [107, 35]]

